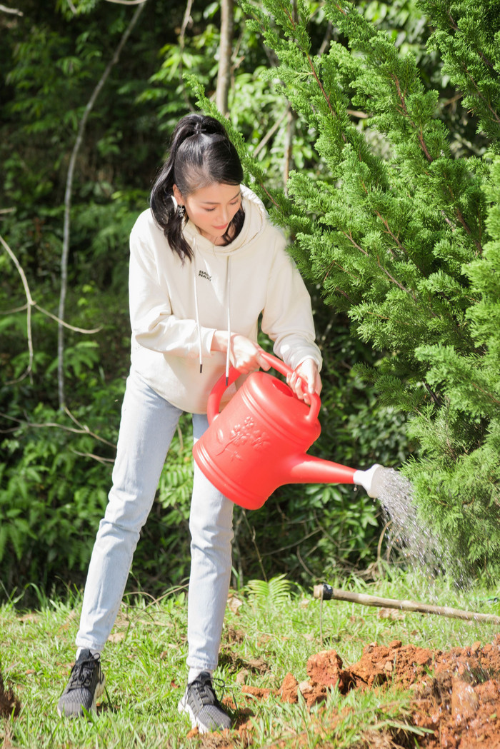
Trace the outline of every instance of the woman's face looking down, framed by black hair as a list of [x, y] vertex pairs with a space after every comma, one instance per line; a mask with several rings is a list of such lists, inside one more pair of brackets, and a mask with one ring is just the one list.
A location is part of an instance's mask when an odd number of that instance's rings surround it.
[[184, 205], [187, 217], [200, 234], [214, 244], [222, 244], [222, 237], [241, 207], [239, 185], [214, 183], [191, 192], [185, 198], [177, 185], [173, 186], [175, 200]]

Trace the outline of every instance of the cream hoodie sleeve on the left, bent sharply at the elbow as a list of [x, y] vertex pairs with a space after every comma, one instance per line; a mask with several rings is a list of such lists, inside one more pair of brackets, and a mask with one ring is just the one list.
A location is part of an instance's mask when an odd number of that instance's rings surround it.
[[[130, 234], [129, 303], [132, 338], [136, 343], [163, 354], [195, 358], [211, 356], [215, 330], [198, 327], [196, 320], [172, 314], [168, 287], [158, 276], [158, 252], [171, 252], [168, 246], [158, 248], [154, 237], [143, 241], [136, 227]], [[190, 276], [187, 262], [185, 272]], [[190, 279], [188, 279], [190, 280]], [[201, 345], [201, 352], [200, 352]]]

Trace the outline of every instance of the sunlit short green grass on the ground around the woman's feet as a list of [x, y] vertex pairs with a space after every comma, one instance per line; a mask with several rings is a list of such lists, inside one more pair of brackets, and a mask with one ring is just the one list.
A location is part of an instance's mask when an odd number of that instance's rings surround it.
[[[412, 598], [427, 603], [497, 613], [488, 601], [496, 595], [481, 587], [461, 592], [440, 580], [433, 589], [421, 574], [388, 571], [384, 580], [367, 586], [361, 580], [330, 580], [336, 587], [370, 592], [388, 598]], [[402, 640], [434, 649], [493, 641], [494, 625], [406, 614], [401, 619], [381, 618], [378, 609], [337, 601], [317, 601], [306, 591], [275, 578], [235, 592], [241, 601], [228, 607], [220, 667], [216, 676], [226, 682], [226, 694], [235, 698], [239, 715], [253, 713], [251, 745], [265, 747], [284, 739], [285, 745], [313, 748], [361, 746], [367, 731], [397, 727], [409, 731], [405, 714], [411, 694], [394, 687], [384, 691], [355, 692], [342, 697], [332, 691], [328, 703], [310, 712], [305, 704], [269, 700], [247, 703], [238, 673], [247, 671], [246, 683], [277, 689], [286, 673], [299, 682], [307, 679], [307, 659], [321, 649], [335, 649], [345, 664], [361, 657], [374, 641]], [[147, 597], [124, 600], [103, 654], [107, 694], [98, 715], [91, 719], [62, 720], [56, 712], [58, 697], [74, 660], [74, 637], [81, 599], [61, 602], [43, 599], [37, 611], [22, 611], [10, 602], [0, 607], [0, 668], [6, 688], [21, 702], [16, 719], [0, 721], [0, 746], [42, 748], [172, 748], [202, 743], [224, 746], [217, 739], [187, 739], [190, 729], [178, 715], [184, 690], [187, 655], [184, 592], [170, 592], [160, 601]], [[498, 607], [498, 604], [497, 604]], [[337, 722], [332, 715], [340, 712]], [[237, 713], [238, 714], [238, 713]], [[237, 747], [247, 742], [234, 733]]]

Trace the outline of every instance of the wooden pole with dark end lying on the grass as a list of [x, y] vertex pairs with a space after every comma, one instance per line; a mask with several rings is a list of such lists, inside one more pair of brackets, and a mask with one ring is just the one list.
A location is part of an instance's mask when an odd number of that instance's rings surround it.
[[367, 595], [366, 593], [353, 593], [349, 590], [340, 590], [332, 588], [330, 585], [315, 585], [313, 597], [321, 598], [322, 601], [331, 601], [335, 598], [337, 601], [350, 601], [354, 604], [363, 606], [379, 606], [383, 608], [394, 608], [400, 611], [411, 611], [412, 613], [433, 613], [439, 616], [448, 616], [451, 619], [467, 619], [473, 622], [489, 622], [490, 624], [500, 624], [500, 616], [493, 613], [475, 613], [474, 611], [464, 611], [454, 609], [450, 606], [432, 606], [430, 604], [421, 604], [417, 601], [399, 601], [397, 598], [379, 598], [377, 595]]

